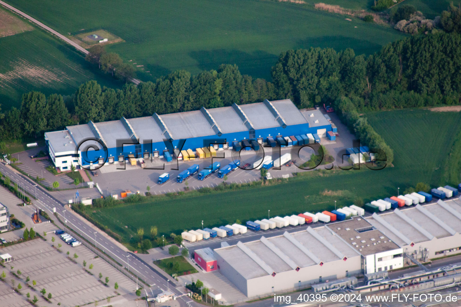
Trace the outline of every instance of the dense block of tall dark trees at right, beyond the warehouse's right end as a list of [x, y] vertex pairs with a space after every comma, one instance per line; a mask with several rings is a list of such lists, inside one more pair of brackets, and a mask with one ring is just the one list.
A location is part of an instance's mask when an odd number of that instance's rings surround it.
[[310, 48], [283, 52], [272, 68], [278, 98], [298, 107], [349, 97], [357, 110], [461, 103], [461, 36], [438, 31], [375, 54]]

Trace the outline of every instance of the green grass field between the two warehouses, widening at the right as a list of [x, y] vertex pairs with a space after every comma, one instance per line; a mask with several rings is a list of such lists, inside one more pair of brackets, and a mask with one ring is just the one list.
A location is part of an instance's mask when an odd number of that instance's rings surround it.
[[395, 167], [372, 171], [362, 166], [361, 170], [338, 170], [330, 175], [322, 171], [278, 185], [164, 197], [146, 203], [87, 209], [86, 213], [129, 242], [139, 227], [148, 230], [155, 225], [160, 233], [168, 235], [199, 228], [201, 220], [209, 227], [236, 219], [266, 218], [268, 209], [272, 216], [331, 210], [335, 200], [341, 207], [350, 205], [355, 197], [365, 201], [389, 197], [397, 193], [397, 187], [403, 191], [418, 182], [445, 184], [442, 173], [456, 135], [461, 132], [461, 112], [396, 110], [366, 116], [394, 149]]

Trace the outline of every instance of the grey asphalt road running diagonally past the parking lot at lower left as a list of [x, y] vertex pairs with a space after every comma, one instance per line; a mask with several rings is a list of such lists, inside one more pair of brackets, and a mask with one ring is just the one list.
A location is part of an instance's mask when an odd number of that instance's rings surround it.
[[[74, 216], [74, 214], [65, 214], [66, 210], [64, 209], [63, 204], [59, 203], [53, 197], [51, 197], [47, 191], [42, 190], [40, 185], [35, 186], [35, 183], [32, 183], [26, 179], [22, 174], [18, 174], [12, 171], [10, 168], [7, 168], [3, 163], [0, 163], [0, 171], [2, 174], [10, 177], [12, 181], [22, 185], [24, 189], [30, 194], [35, 195], [36, 189], [37, 200], [33, 200], [33, 203], [38, 208], [47, 211], [50, 216], [53, 215], [53, 208], [56, 208], [56, 213], [60, 215], [62, 220], [66, 220], [66, 224], [69, 225], [74, 231], [76, 231], [82, 237], [88, 239], [89, 242], [96, 241], [98, 248], [104, 250], [108, 255], [110, 255], [119, 263], [129, 267], [131, 272], [136, 272], [136, 275], [148, 283], [151, 286], [151, 289], [167, 290], [169, 288], [175, 293], [175, 295], [184, 294], [181, 290], [175, 288], [171, 283], [167, 284], [167, 280], [163, 275], [157, 273], [153, 267], [148, 266], [145, 262], [137, 258], [136, 255], [120, 249], [116, 244], [112, 243], [99, 232], [95, 232], [93, 228], [84, 224], [81, 220]], [[129, 258], [128, 260], [127, 257]], [[195, 302], [187, 296], [180, 297], [177, 300], [183, 307], [195, 304]]]

